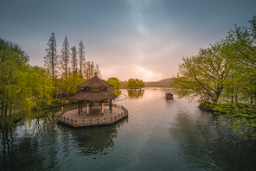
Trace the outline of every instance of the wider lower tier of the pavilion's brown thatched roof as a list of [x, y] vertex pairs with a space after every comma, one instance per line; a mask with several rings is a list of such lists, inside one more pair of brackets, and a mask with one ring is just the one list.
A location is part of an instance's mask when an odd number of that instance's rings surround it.
[[112, 100], [118, 98], [118, 96], [108, 91], [89, 91], [84, 89], [75, 94], [72, 98], [77, 101], [100, 102], [104, 100]]

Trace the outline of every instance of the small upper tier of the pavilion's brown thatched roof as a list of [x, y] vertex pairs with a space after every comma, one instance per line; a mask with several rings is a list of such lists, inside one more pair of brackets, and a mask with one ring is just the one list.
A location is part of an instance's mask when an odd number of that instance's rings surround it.
[[95, 87], [112, 87], [113, 85], [107, 83], [106, 81], [99, 79], [98, 76], [94, 76], [93, 79], [89, 79], [80, 85], [77, 85], [77, 87], [80, 88], [85, 88], [85, 87], [90, 87], [90, 88], [95, 88]]

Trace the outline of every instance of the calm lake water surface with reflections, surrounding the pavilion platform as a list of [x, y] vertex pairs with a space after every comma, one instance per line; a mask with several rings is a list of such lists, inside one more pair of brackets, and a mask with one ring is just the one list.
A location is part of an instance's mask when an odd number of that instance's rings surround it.
[[[20, 123], [3, 142], [0, 170], [255, 170], [256, 143], [170, 89], [122, 93], [125, 120], [80, 128], [53, 117]], [[50, 116], [50, 115], [49, 115]]]

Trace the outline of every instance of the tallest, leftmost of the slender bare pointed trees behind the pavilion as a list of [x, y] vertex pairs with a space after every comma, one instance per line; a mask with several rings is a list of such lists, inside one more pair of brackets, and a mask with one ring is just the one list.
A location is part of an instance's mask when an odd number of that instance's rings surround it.
[[44, 66], [47, 68], [48, 73], [52, 76], [52, 79], [57, 77], [58, 55], [57, 44], [54, 32], [52, 33], [49, 41], [48, 48], [46, 48], [47, 55], [44, 57]]

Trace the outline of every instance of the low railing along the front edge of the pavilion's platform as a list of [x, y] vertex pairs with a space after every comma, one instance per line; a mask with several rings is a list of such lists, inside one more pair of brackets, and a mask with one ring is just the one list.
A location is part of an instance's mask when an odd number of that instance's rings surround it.
[[61, 123], [66, 123], [68, 125], [74, 126], [74, 127], [82, 127], [82, 126], [92, 126], [92, 125], [99, 125], [99, 124], [111, 124], [115, 123], [118, 120], [127, 117], [128, 116], [128, 110], [125, 109], [123, 105], [117, 105], [118, 108], [123, 109], [124, 112], [121, 112], [118, 115], [115, 115], [114, 117], [104, 117], [104, 118], [90, 118], [90, 119], [82, 119], [82, 120], [74, 120], [69, 119], [68, 117], [62, 117], [62, 115], [58, 116], [58, 121]]

